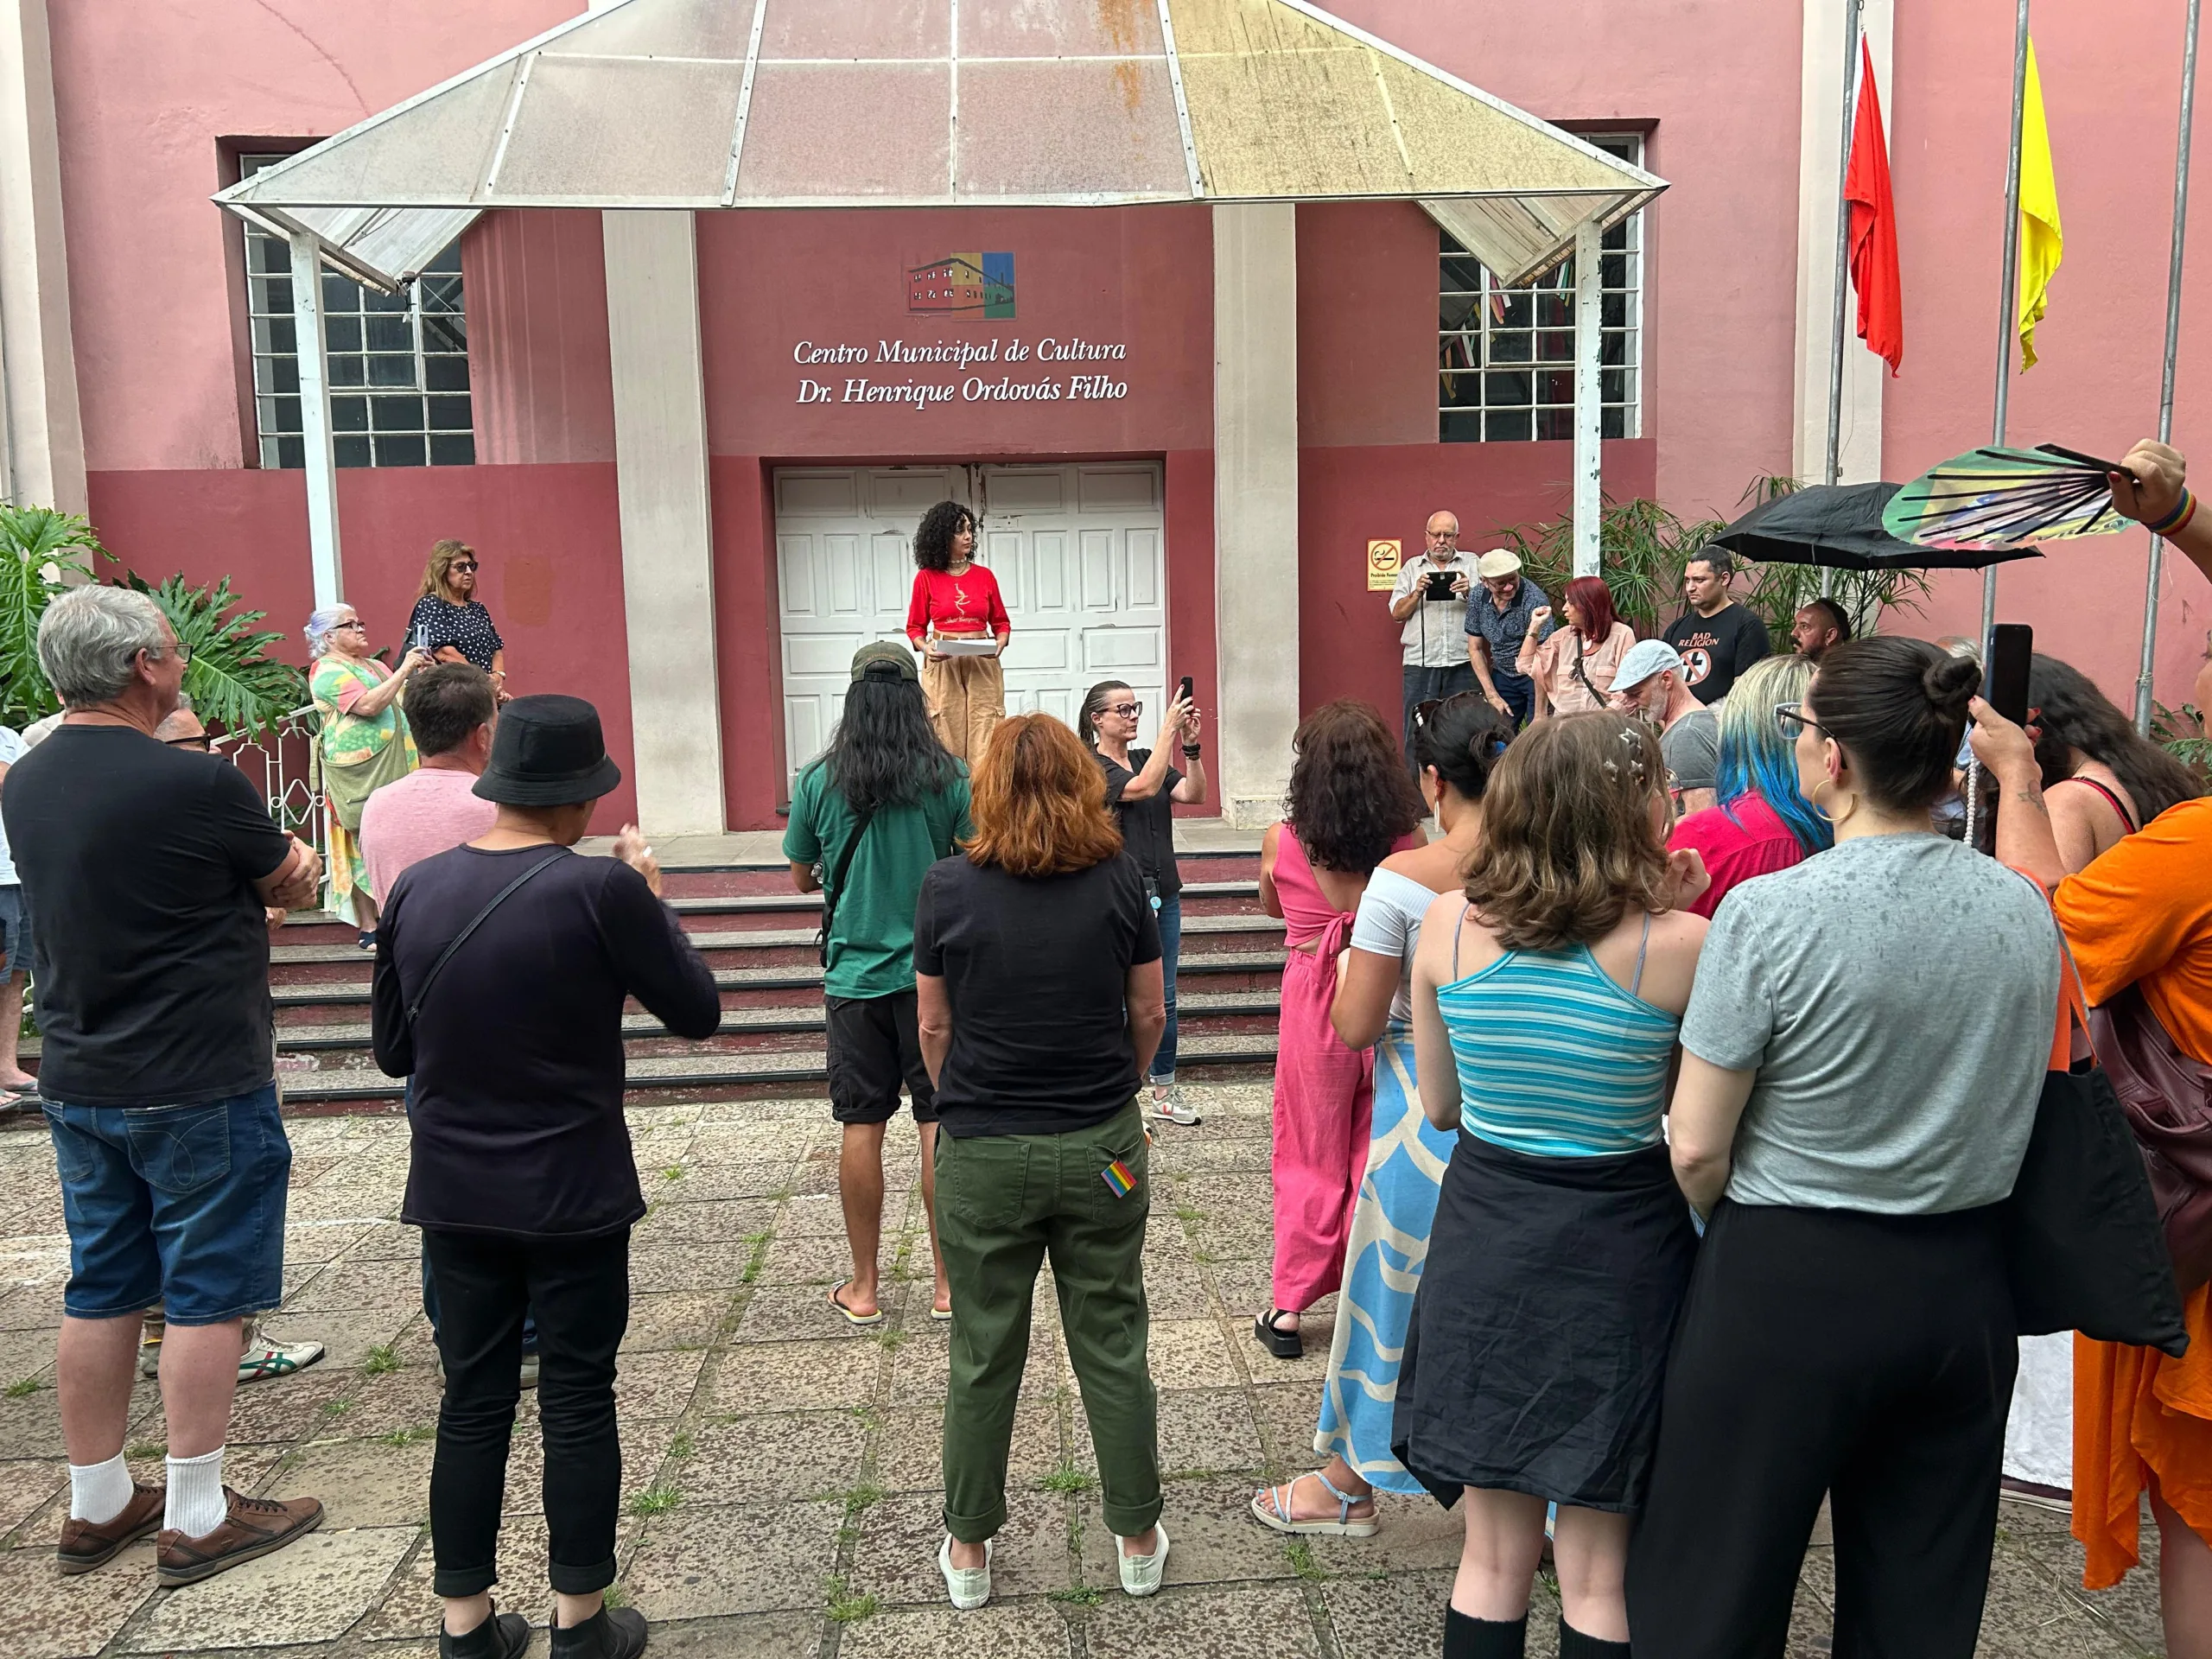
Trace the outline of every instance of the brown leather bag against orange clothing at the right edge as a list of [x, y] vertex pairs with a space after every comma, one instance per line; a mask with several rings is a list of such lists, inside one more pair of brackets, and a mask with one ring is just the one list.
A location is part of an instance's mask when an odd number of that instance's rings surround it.
[[2212, 1279], [2212, 1066], [2190, 1060], [2130, 984], [2088, 1013], [2090, 1044], [2143, 1148], [2174, 1283]]

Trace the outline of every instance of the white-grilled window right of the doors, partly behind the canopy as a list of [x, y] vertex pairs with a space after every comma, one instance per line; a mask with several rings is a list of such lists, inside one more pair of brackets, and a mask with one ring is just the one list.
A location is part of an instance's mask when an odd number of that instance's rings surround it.
[[[1599, 150], [1644, 164], [1644, 139], [1590, 137]], [[1644, 215], [1599, 241], [1597, 392], [1606, 438], [1644, 429]], [[1528, 288], [1500, 288], [1491, 272], [1438, 232], [1438, 438], [1528, 442], [1575, 436], [1575, 261]]]

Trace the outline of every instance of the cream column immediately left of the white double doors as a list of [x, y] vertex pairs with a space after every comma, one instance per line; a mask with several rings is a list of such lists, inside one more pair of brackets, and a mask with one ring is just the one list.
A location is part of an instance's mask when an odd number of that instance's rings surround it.
[[688, 210], [599, 219], [637, 821], [655, 836], [719, 834], [728, 816], [695, 223]]

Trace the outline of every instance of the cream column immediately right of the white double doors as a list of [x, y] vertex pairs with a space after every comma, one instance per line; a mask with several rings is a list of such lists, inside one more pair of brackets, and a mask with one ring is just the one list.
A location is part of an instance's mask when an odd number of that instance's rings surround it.
[[1283, 816], [1298, 728], [1298, 210], [1214, 210], [1214, 648], [1221, 816]]

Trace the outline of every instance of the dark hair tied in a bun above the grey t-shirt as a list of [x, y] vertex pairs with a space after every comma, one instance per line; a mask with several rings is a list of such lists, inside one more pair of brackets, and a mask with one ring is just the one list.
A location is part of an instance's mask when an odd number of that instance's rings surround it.
[[1971, 657], [1885, 633], [1820, 653], [1805, 701], [1849, 750], [1874, 805], [1924, 812], [1951, 792], [1966, 703], [1978, 690], [1982, 668]]

